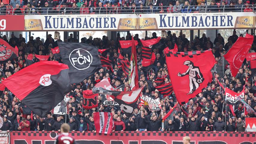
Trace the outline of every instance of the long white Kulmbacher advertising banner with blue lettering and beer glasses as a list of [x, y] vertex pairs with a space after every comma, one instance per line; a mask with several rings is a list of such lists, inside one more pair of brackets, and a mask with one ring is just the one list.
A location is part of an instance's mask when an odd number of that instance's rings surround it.
[[255, 13], [26, 15], [25, 31], [255, 28]]

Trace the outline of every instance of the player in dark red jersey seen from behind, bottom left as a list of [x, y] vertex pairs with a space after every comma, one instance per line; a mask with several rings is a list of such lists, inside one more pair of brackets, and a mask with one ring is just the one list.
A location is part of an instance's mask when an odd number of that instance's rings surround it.
[[54, 144], [75, 144], [75, 139], [68, 134], [69, 130], [68, 124], [62, 124], [60, 127], [61, 134], [57, 136]]

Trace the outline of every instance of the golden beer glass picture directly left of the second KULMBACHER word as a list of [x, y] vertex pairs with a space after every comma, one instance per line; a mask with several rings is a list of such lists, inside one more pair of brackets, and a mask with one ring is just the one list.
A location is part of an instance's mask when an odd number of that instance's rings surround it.
[[139, 29], [157, 29], [155, 18], [140, 18]]

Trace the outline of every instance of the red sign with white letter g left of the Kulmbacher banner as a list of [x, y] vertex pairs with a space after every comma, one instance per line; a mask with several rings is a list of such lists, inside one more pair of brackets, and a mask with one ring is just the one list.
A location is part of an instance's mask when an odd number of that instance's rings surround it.
[[1, 15], [0, 31], [24, 31], [24, 15]]

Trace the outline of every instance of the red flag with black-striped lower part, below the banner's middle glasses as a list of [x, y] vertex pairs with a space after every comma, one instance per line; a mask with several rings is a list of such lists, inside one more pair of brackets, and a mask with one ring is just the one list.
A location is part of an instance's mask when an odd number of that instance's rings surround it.
[[142, 43], [141, 58], [150, 59], [152, 53], [152, 46], [157, 44], [161, 40], [161, 37], [151, 40], [140, 40]]

